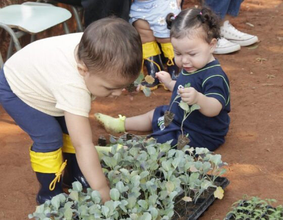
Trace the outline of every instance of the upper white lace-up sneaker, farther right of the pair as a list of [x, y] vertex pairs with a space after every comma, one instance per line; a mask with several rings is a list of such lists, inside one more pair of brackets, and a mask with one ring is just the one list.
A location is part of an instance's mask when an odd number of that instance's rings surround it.
[[237, 30], [229, 21], [224, 21], [220, 31], [221, 35], [227, 40], [238, 43], [241, 46], [249, 46], [258, 41], [257, 36]]

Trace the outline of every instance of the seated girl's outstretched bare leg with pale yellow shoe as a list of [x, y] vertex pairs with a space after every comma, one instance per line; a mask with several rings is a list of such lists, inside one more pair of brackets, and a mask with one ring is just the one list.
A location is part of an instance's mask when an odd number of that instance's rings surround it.
[[145, 114], [126, 118], [119, 115], [118, 118], [96, 113], [96, 119], [105, 127], [108, 133], [122, 133], [124, 131], [150, 131], [152, 130], [152, 119], [154, 110]]

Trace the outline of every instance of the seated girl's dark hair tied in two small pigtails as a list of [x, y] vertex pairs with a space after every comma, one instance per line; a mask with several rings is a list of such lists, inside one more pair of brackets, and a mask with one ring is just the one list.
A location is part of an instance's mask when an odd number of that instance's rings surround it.
[[213, 38], [220, 38], [220, 18], [209, 8], [190, 8], [181, 11], [177, 16], [169, 13], [166, 16], [167, 27], [170, 29], [170, 37], [190, 37], [192, 31], [199, 27], [203, 29], [201, 34], [206, 42]]

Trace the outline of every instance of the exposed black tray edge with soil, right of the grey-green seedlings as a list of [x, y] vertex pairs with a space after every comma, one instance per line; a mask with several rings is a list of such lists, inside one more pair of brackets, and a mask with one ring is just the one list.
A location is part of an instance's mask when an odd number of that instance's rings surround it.
[[[225, 177], [218, 177], [215, 180], [215, 185], [222, 187], [222, 189], [225, 189], [226, 186], [228, 186], [230, 182]], [[180, 202], [176, 205], [175, 210], [178, 212], [178, 214], [174, 214], [172, 219], [187, 219], [187, 220], [196, 220], [198, 219], [208, 208], [209, 206], [214, 202], [216, 199], [213, 195], [216, 188], [210, 187], [204, 194], [203, 197], [200, 197], [196, 203], [194, 202]], [[182, 198], [182, 195], [179, 197]]]

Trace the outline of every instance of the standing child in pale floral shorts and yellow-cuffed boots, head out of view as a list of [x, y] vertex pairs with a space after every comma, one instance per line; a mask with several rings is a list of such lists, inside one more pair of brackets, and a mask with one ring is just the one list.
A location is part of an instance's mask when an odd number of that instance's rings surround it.
[[181, 0], [134, 0], [129, 14], [129, 22], [138, 31], [143, 42], [143, 58], [148, 74], [155, 78], [154, 83], [143, 82], [142, 85], [151, 90], [157, 89], [160, 84], [155, 73], [163, 70], [160, 59], [160, 49], [166, 59], [167, 70], [172, 79], [177, 79], [179, 70], [174, 63], [174, 52], [170, 42], [170, 32], [167, 29], [166, 15], [180, 12]]

